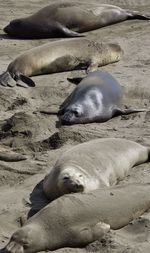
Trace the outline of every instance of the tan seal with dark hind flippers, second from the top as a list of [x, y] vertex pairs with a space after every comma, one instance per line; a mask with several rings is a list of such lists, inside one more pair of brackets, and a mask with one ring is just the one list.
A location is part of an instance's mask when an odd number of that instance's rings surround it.
[[11, 62], [0, 76], [3, 86], [35, 86], [29, 76], [70, 71], [74, 69], [95, 70], [122, 56], [116, 44], [102, 44], [87, 39], [68, 39], [50, 42], [33, 48]]

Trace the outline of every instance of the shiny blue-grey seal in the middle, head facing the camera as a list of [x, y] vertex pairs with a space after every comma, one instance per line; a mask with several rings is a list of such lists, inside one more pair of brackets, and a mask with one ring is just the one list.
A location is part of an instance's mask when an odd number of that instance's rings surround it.
[[112, 75], [103, 71], [89, 73], [86, 78], [69, 79], [79, 85], [60, 106], [59, 120], [64, 125], [105, 122], [114, 116], [146, 109], [120, 109], [123, 92]]

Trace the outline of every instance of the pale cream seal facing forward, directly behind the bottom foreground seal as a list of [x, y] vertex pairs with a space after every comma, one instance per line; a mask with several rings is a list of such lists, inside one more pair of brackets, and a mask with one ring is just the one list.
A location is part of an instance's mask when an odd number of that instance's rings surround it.
[[71, 192], [89, 192], [116, 184], [129, 170], [148, 161], [150, 150], [120, 138], [95, 139], [64, 152], [45, 177], [50, 200]]

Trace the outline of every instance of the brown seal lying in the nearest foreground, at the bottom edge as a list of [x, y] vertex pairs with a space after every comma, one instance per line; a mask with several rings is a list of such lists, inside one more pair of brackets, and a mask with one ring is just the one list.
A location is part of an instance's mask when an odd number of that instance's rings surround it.
[[18, 229], [4, 250], [32, 253], [87, 245], [148, 210], [149, 192], [150, 184], [129, 184], [62, 196]]

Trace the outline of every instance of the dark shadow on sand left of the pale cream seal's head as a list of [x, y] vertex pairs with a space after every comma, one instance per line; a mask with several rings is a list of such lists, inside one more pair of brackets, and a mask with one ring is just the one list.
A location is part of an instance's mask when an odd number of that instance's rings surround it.
[[27, 214], [27, 219], [49, 204], [50, 201], [46, 198], [43, 192], [43, 180], [41, 180], [30, 193], [30, 202], [31, 209]]

